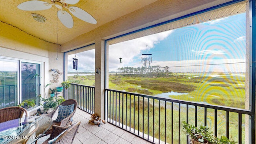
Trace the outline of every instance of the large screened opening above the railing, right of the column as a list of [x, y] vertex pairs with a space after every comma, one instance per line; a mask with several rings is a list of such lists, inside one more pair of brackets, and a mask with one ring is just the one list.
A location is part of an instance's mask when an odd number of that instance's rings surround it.
[[245, 108], [245, 36], [240, 13], [110, 42], [109, 88]]

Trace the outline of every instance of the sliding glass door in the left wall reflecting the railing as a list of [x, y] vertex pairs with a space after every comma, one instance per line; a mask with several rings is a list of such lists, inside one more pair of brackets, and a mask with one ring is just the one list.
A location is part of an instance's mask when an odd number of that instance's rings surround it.
[[39, 63], [0, 58], [0, 108], [38, 97], [40, 87]]

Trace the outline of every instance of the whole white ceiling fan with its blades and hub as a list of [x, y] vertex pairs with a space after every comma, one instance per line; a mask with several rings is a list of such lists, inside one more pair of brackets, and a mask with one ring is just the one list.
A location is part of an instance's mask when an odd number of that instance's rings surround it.
[[78, 8], [76, 6], [69, 6], [69, 4], [76, 4], [79, 0], [50, 0], [51, 3], [40, 1], [40, 0], [29, 0], [26, 2], [22, 2], [17, 6], [20, 10], [26, 11], [34, 11], [34, 10], [47, 10], [52, 6], [56, 6], [56, 8], [60, 9], [57, 12], [57, 16], [62, 22], [64, 26], [67, 28], [72, 28], [74, 25], [72, 16], [64, 9], [68, 9], [70, 13], [74, 16], [83, 20], [85, 22], [89, 22], [91, 24], [96, 24], [97, 21], [94, 17], [92, 17], [88, 12]]

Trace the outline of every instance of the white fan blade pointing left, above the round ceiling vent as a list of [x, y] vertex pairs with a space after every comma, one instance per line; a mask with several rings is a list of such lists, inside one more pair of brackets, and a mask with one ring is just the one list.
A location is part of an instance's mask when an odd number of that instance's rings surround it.
[[17, 6], [18, 9], [26, 10], [26, 11], [47, 10], [51, 7], [52, 5], [50, 5], [48, 2], [43, 2], [40, 0], [30, 0], [30, 1], [22, 2]]

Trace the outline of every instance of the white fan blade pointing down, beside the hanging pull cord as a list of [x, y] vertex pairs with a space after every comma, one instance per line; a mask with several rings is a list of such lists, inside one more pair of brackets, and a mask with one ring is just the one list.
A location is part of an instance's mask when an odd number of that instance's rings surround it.
[[60, 22], [67, 28], [73, 28], [74, 22], [72, 16], [65, 10], [58, 11], [58, 18]]

